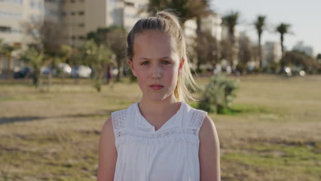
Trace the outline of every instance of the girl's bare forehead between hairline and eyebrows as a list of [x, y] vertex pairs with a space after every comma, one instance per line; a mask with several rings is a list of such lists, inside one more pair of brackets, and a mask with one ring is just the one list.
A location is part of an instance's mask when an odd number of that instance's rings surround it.
[[133, 58], [160, 58], [170, 56], [174, 58], [174, 38], [166, 32], [147, 30], [134, 37]]

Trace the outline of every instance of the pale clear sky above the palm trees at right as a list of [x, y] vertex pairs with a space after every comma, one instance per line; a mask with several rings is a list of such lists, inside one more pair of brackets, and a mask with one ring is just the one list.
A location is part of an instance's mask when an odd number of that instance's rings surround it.
[[280, 41], [279, 34], [274, 32], [279, 23], [291, 25], [285, 35], [285, 47], [292, 50], [298, 41], [313, 47], [314, 54], [321, 53], [321, 0], [211, 0], [212, 9], [219, 14], [230, 10], [240, 12], [239, 31], [248, 32], [248, 36], [257, 43], [257, 33], [252, 22], [258, 15], [267, 16], [268, 31], [263, 32], [262, 44], [265, 41]]

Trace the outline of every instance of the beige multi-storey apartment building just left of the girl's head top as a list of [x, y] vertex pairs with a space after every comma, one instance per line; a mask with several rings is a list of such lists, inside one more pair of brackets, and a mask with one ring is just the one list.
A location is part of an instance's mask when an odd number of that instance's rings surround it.
[[62, 0], [61, 23], [64, 43], [79, 46], [88, 32], [98, 27], [117, 25], [128, 31], [139, 19], [147, 16], [139, 10], [148, 0]]

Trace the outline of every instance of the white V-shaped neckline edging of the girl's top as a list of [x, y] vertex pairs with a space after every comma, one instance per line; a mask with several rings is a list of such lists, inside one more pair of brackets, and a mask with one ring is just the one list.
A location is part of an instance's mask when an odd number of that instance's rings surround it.
[[163, 131], [165, 130], [166, 128], [173, 128], [176, 126], [176, 124], [172, 123], [172, 125], [170, 125], [170, 123], [172, 121], [175, 120], [176, 117], [178, 117], [182, 112], [182, 109], [183, 109], [183, 106], [185, 106], [185, 102], [180, 102], [180, 108], [178, 109], [178, 111], [173, 115], [171, 116], [169, 119], [167, 119], [167, 121], [165, 121], [165, 123], [160, 127], [158, 128], [158, 130], [155, 130], [155, 126], [152, 125], [149, 121], [147, 121], [147, 119], [145, 119], [145, 117], [143, 117], [143, 114], [141, 114], [141, 111], [139, 110], [139, 102], [136, 102], [135, 104], [135, 109], [136, 109], [136, 112], [139, 116], [139, 123], [138, 123], [138, 127], [140, 128], [140, 130], [143, 130], [143, 132], [160, 132], [160, 131]]

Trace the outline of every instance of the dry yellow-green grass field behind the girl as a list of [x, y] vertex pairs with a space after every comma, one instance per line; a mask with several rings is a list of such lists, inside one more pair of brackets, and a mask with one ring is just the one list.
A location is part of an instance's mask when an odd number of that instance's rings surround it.
[[[234, 114], [210, 114], [222, 180], [321, 180], [321, 76], [232, 78], [240, 81]], [[102, 93], [70, 82], [49, 93], [0, 82], [1, 181], [96, 179], [104, 121], [141, 93], [126, 82]]]

